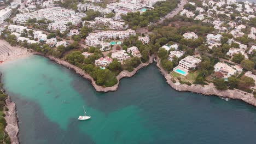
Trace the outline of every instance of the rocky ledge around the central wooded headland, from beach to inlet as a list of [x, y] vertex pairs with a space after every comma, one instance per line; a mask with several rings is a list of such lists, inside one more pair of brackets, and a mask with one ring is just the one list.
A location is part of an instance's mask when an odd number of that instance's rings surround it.
[[138, 65], [137, 68], [133, 69], [133, 71], [129, 72], [129, 71], [126, 71], [126, 70], [123, 70], [121, 71], [121, 73], [117, 76], [117, 80], [118, 80], [118, 83], [115, 84], [114, 86], [112, 87], [102, 87], [102, 86], [98, 86], [95, 82], [95, 80], [89, 75], [89, 74], [86, 74], [84, 72], [84, 70], [66, 62], [66, 61], [63, 61], [59, 58], [55, 58], [53, 56], [47, 56], [47, 55], [43, 55], [42, 53], [39, 53], [39, 52], [33, 52], [34, 55], [40, 55], [40, 56], [44, 56], [46, 58], [49, 58], [51, 61], [55, 61], [56, 63], [60, 64], [60, 65], [63, 65], [64, 67], [66, 68], [69, 68], [69, 69], [73, 69], [75, 71], [75, 73], [79, 74], [80, 76], [83, 76], [85, 79], [88, 79], [91, 81], [91, 84], [92, 86], [94, 86], [94, 88], [96, 89], [97, 92], [111, 92], [111, 91], [117, 91], [118, 90], [118, 86], [119, 86], [119, 82], [121, 79], [123, 79], [124, 77], [132, 77], [133, 75], [135, 75], [137, 73], [137, 71], [143, 67], [146, 67], [147, 65], [149, 65], [150, 63], [153, 63], [153, 59], [154, 59], [154, 56], [150, 56], [149, 57], [149, 61], [146, 62], [146, 63], [141, 63]]

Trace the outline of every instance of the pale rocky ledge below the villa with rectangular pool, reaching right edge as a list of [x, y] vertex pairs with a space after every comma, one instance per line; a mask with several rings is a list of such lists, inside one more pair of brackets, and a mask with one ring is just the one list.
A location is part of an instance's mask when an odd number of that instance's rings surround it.
[[167, 73], [166, 70], [164, 70], [159, 62], [159, 58], [156, 57], [156, 65], [161, 71], [162, 75], [164, 75], [166, 82], [168, 85], [170, 85], [173, 89], [179, 92], [188, 91], [188, 92], [194, 92], [194, 93], [200, 93], [204, 95], [217, 95], [219, 97], [225, 97], [225, 98], [231, 98], [231, 99], [238, 99], [243, 100], [248, 104], [256, 106], [256, 99], [253, 97], [253, 94], [240, 91], [239, 89], [228, 89], [225, 91], [220, 91], [217, 89], [213, 83], [210, 83], [210, 85], [185, 85], [181, 84], [179, 82], [172, 82], [172, 76]]

